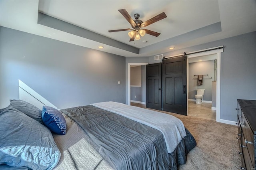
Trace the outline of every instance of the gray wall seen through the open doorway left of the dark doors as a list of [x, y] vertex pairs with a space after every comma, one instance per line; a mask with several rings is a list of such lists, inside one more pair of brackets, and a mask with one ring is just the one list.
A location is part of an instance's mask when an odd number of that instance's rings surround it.
[[[141, 87], [131, 87], [131, 100], [146, 103], [146, 66], [141, 66]], [[136, 95], [136, 98], [134, 97]]]

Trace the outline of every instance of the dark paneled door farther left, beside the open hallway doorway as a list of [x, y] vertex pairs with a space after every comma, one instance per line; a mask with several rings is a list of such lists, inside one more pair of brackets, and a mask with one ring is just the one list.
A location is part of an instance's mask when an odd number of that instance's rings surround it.
[[162, 63], [146, 65], [146, 107], [162, 109]]

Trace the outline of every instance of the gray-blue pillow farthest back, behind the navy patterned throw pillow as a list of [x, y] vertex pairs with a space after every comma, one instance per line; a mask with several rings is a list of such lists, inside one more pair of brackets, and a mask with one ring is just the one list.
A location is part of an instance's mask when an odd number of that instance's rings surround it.
[[23, 100], [10, 100], [10, 105], [8, 107], [13, 107], [44, 125], [41, 118], [42, 111], [36, 106]]

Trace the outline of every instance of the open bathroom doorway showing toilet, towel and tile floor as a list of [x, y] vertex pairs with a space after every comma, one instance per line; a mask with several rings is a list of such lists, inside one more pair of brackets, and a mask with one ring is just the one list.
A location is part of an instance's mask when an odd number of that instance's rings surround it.
[[216, 121], [216, 59], [216, 54], [188, 59], [188, 116]]

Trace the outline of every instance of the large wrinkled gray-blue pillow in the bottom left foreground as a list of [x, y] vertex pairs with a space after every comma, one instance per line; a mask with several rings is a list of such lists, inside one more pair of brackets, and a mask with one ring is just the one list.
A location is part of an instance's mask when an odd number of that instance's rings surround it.
[[0, 164], [33, 170], [58, 164], [60, 150], [47, 127], [12, 107], [0, 109], [0, 122]]

